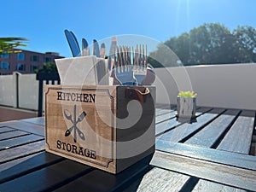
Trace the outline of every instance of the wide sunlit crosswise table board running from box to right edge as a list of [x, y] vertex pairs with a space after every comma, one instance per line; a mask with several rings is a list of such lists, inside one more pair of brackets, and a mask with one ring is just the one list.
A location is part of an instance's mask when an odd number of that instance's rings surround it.
[[256, 172], [251, 170], [220, 165], [206, 160], [196, 160], [177, 154], [167, 154], [160, 151], [154, 153], [154, 158], [150, 164], [239, 189], [256, 189]]

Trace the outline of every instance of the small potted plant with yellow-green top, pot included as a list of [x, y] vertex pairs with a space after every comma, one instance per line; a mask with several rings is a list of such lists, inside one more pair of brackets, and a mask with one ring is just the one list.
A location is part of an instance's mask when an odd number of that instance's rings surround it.
[[195, 118], [196, 96], [194, 91], [181, 91], [177, 96], [177, 118]]

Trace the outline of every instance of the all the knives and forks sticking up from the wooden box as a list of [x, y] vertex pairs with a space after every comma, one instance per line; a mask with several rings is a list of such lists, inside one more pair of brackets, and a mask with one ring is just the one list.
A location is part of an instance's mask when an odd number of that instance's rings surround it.
[[[89, 44], [85, 38], [82, 38], [82, 50], [80, 50], [74, 33], [68, 30], [64, 32], [73, 57], [90, 56]], [[92, 55], [96, 58], [108, 58], [105, 61], [106, 69], [102, 70], [102, 67], [96, 66], [97, 81], [100, 82], [102, 78], [108, 77], [109, 81], [104, 80], [104, 82], [113, 85], [153, 84], [155, 74], [153, 69], [148, 67], [147, 54], [147, 45], [137, 44], [136, 49], [129, 46], [118, 46], [117, 38], [113, 37], [108, 57], [106, 57], [106, 44], [102, 43], [100, 49], [96, 39], [93, 39]]]

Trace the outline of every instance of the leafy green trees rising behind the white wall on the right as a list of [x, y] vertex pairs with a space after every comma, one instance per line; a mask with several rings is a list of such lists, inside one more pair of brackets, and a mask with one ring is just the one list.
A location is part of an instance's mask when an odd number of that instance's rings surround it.
[[[256, 31], [251, 26], [238, 26], [230, 32], [218, 23], [204, 24], [164, 44], [178, 56], [184, 65], [224, 64], [256, 61]], [[149, 56], [158, 53], [157, 49]], [[158, 61], [158, 60], [157, 60]], [[151, 63], [159, 66], [159, 63]], [[162, 66], [170, 63], [159, 61]]]

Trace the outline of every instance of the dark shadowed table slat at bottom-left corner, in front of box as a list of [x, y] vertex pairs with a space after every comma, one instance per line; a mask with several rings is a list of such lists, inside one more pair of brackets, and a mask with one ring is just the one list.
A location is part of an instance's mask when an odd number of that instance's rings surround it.
[[76, 177], [80, 177], [93, 170], [72, 160], [63, 160], [36, 172], [15, 178], [0, 185], [0, 191], [29, 192], [52, 190], [64, 185]]

